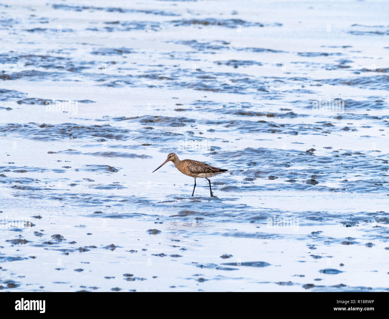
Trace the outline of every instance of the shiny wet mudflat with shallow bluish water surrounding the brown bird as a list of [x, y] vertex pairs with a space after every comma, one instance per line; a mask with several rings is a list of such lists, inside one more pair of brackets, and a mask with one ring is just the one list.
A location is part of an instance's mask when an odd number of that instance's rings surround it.
[[0, 289], [389, 290], [387, 4], [220, 3], [0, 5]]

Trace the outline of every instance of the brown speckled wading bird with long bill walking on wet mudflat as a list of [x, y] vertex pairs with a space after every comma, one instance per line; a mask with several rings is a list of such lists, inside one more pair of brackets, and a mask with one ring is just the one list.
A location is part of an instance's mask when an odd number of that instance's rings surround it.
[[[212, 177], [217, 174], [221, 174], [224, 172], [227, 172], [228, 170], [223, 170], [222, 168], [217, 168], [210, 166], [208, 164], [205, 164], [203, 162], [199, 161], [194, 161], [193, 159], [183, 159], [180, 161], [178, 156], [174, 153], [170, 153], [168, 155], [168, 158], [166, 161], [162, 163], [160, 167], [158, 167], [156, 170], [161, 168], [163, 165], [165, 165], [168, 161], [172, 161], [174, 166], [177, 167], [177, 169], [185, 175], [191, 176], [195, 179], [195, 186], [193, 187], [193, 192], [192, 196], [195, 193], [195, 188], [196, 188], [196, 178], [205, 178], [207, 181], [209, 181], [209, 190], [211, 192], [211, 197], [215, 197], [214, 193], [212, 193], [212, 188], [211, 188], [211, 181], [208, 179], [208, 177]], [[153, 173], [156, 171], [154, 170]]]

